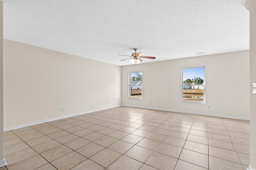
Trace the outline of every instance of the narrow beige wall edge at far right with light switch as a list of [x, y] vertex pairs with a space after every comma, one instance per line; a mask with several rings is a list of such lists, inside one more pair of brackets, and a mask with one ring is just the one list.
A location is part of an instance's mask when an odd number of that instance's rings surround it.
[[256, 83], [256, 1], [247, 0], [250, 11], [250, 162], [256, 168], [256, 94], [252, 94], [252, 83]]

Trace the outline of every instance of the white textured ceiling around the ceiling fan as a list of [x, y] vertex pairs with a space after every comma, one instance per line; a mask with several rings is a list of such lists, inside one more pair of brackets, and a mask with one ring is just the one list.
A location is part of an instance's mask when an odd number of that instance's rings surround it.
[[249, 49], [246, 0], [2, 1], [4, 39], [120, 66]]

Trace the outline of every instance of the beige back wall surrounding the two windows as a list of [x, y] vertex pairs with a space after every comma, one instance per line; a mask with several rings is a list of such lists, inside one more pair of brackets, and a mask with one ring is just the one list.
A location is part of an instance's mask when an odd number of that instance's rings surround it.
[[[181, 68], [190, 66], [205, 66], [205, 104], [181, 102]], [[134, 71], [142, 71], [142, 100], [128, 98]], [[129, 65], [122, 67], [122, 104], [249, 119], [248, 83], [249, 51]]]

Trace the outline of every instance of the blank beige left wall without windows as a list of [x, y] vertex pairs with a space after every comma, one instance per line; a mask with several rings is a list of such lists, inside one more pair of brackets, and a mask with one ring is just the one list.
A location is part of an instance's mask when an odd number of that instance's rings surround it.
[[120, 106], [120, 93], [120, 66], [4, 39], [4, 128]]

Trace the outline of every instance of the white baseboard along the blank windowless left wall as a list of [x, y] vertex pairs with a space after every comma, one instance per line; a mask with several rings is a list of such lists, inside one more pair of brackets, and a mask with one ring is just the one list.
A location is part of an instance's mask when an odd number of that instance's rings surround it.
[[70, 115], [64, 115], [64, 116], [60, 116], [60, 117], [53, 117], [53, 118], [50, 118], [50, 119], [44, 119], [44, 120], [40, 120], [40, 121], [34, 121], [34, 122], [30, 122], [30, 123], [25, 123], [25, 124], [22, 124], [22, 125], [16, 125], [16, 126], [12, 126], [12, 127], [6, 127], [6, 128], [4, 128], [4, 132], [5, 132], [5, 131], [14, 130], [14, 129], [19, 129], [19, 128], [22, 128], [22, 127], [28, 127], [28, 126], [32, 126], [32, 125], [37, 125], [37, 124], [40, 124], [40, 123], [46, 123], [46, 122], [54, 121], [54, 120], [58, 120], [58, 119], [64, 119], [64, 118], [67, 118], [67, 117], [82, 115], [82, 114], [86, 114], [86, 113], [92, 113], [92, 112], [94, 112], [94, 111], [100, 111], [100, 110], [110, 109], [110, 108], [118, 107], [118, 106], [122, 106], [122, 105], [104, 107], [104, 108], [100, 108], [100, 109], [89, 110], [89, 111], [84, 111], [84, 112], [80, 112], [80, 113], [74, 113], [74, 114], [70, 114]]

